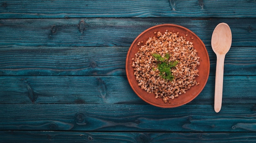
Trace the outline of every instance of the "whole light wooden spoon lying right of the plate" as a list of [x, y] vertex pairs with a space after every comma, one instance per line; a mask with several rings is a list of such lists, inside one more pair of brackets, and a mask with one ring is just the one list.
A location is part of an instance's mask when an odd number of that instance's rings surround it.
[[231, 47], [231, 43], [232, 34], [229, 25], [226, 23], [218, 24], [213, 30], [211, 37], [211, 47], [217, 56], [214, 93], [214, 110], [216, 113], [220, 112], [221, 109], [224, 60]]

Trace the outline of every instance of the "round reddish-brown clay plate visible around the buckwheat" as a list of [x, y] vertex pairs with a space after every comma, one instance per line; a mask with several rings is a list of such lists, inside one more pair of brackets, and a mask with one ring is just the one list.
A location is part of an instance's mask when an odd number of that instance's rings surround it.
[[[175, 98], [171, 102], [171, 104], [164, 103], [162, 98], [156, 99], [153, 93], [147, 93], [145, 90], [141, 89], [138, 86], [137, 80], [135, 79], [134, 70], [132, 67], [132, 58], [135, 57], [135, 53], [139, 50], [141, 45], [143, 45], [143, 44], [137, 45], [137, 43], [139, 41], [147, 41], [149, 37], [155, 36], [154, 32], [160, 31], [164, 33], [166, 32], [166, 30], [171, 32], [179, 32], [179, 36], [186, 37], [187, 40], [192, 41], [193, 46], [196, 50], [198, 50], [197, 54], [200, 57], [200, 65], [198, 66], [199, 76], [196, 77], [196, 80], [197, 82], [200, 83], [200, 85], [192, 86], [189, 90], [186, 90], [186, 93], [183, 93], [179, 97]], [[193, 37], [193, 39], [189, 39], [189, 37]], [[162, 107], [162, 108], [173, 108], [173, 107], [182, 106], [184, 104], [191, 102], [194, 98], [196, 98], [199, 95], [199, 93], [202, 91], [202, 89], [206, 85], [206, 82], [209, 77], [209, 72], [210, 72], [209, 55], [202, 40], [197, 35], [195, 35], [195, 33], [193, 33], [191, 30], [175, 24], [161, 24], [161, 25], [148, 28], [147, 30], [142, 32], [132, 42], [126, 57], [126, 76], [128, 78], [128, 82], [132, 87], [133, 91], [139, 96], [139, 98], [141, 98], [145, 102], [157, 107]]]

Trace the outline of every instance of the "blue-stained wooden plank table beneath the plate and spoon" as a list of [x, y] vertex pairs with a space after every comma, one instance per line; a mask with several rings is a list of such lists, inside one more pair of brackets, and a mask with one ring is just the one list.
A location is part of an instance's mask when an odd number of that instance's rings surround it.
[[[213, 109], [215, 26], [229, 24], [223, 104]], [[158, 24], [202, 39], [210, 76], [159, 108], [126, 78], [132, 41]], [[0, 0], [0, 143], [256, 142], [255, 0]]]

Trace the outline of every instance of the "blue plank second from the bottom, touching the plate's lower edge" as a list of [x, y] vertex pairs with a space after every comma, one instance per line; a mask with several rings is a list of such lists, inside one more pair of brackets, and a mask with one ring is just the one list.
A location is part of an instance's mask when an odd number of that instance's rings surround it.
[[0, 130], [256, 132], [255, 104], [0, 104]]

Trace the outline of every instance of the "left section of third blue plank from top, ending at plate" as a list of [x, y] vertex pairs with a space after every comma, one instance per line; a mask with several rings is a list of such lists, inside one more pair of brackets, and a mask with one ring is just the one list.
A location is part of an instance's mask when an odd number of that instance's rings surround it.
[[0, 48], [0, 75], [124, 76], [128, 48]]

